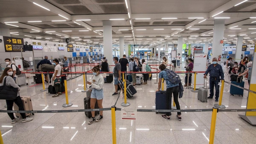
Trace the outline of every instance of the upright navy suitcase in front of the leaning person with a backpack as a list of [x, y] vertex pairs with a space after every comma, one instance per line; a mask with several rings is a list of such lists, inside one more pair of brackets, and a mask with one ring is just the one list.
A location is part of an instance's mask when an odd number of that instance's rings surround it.
[[[166, 109], [166, 96], [165, 96], [166, 91], [158, 91], [156, 92], [156, 109]], [[172, 109], [172, 99], [170, 99], [170, 109]], [[158, 114], [158, 112], [156, 112]]]

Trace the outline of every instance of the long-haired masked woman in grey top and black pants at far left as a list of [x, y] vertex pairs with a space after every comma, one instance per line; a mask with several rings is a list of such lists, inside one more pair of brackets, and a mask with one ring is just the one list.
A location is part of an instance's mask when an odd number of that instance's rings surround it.
[[[6, 82], [5, 83], [6, 86], [18, 88], [18, 90], [20, 91], [20, 87], [17, 84], [15, 84], [15, 82], [13, 80], [13, 69], [12, 68], [7, 67], [7, 68], [4, 69], [3, 74], [0, 77], [0, 86], [4, 85], [4, 80]], [[25, 110], [23, 102], [20, 98], [19, 92], [18, 92], [18, 95], [17, 95], [16, 99], [6, 100], [7, 110], [12, 110], [13, 102], [19, 107], [19, 110]], [[14, 123], [16, 123], [17, 121], [20, 120], [20, 117], [15, 118], [13, 113], [7, 113], [7, 114], [12, 119], [12, 124], [14, 124]], [[22, 123], [33, 120], [33, 118], [26, 117], [25, 113], [20, 113], [20, 115], [22, 116]]]

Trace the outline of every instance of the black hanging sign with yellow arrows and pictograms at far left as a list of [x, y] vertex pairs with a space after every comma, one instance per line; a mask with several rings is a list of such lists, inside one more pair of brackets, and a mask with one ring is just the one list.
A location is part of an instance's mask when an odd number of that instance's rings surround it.
[[23, 48], [23, 38], [3, 36], [5, 52], [20, 52]]

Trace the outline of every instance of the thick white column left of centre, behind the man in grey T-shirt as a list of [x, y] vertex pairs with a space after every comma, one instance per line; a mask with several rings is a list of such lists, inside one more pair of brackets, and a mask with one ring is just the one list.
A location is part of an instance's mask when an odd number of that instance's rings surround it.
[[104, 43], [104, 57], [108, 60], [113, 60], [113, 48], [112, 48], [112, 24], [110, 20], [103, 20], [103, 43]]

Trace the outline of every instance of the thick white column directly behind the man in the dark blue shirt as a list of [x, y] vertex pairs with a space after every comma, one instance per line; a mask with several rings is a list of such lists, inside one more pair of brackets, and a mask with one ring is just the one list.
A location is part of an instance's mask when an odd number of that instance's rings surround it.
[[[218, 59], [219, 55], [222, 54], [223, 44], [220, 44], [220, 41], [223, 40], [224, 28], [225, 28], [224, 19], [214, 20], [212, 58], [216, 57]], [[218, 63], [220, 64], [221, 61], [218, 61]]]

